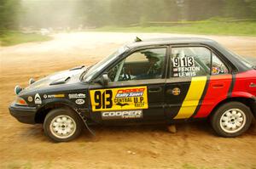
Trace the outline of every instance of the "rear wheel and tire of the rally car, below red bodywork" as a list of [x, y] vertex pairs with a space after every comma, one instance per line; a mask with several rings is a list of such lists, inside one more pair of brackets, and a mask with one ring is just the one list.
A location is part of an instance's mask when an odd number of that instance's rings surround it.
[[222, 104], [211, 118], [212, 128], [219, 136], [233, 138], [246, 132], [253, 120], [251, 110], [241, 102]]

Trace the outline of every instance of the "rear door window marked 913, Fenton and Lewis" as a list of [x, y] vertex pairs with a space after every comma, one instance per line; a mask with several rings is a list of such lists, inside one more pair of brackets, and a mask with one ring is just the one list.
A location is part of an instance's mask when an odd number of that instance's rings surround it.
[[207, 76], [211, 71], [211, 51], [204, 47], [172, 48], [171, 75]]

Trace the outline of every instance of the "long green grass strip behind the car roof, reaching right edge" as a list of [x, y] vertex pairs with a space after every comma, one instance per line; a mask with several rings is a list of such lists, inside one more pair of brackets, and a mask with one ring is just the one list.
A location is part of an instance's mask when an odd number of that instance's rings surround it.
[[189, 33], [206, 35], [253, 36], [256, 37], [256, 21], [196, 21], [180, 22], [177, 25], [152, 26], [105, 26], [93, 31], [121, 31], [121, 32], [159, 32], [159, 33]]

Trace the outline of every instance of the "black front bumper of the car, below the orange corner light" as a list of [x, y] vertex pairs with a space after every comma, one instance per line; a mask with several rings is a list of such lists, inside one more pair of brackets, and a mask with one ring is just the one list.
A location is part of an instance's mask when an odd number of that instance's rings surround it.
[[9, 106], [9, 113], [13, 115], [18, 121], [26, 124], [35, 124], [35, 115], [37, 113], [36, 107], [26, 107], [11, 104]]

